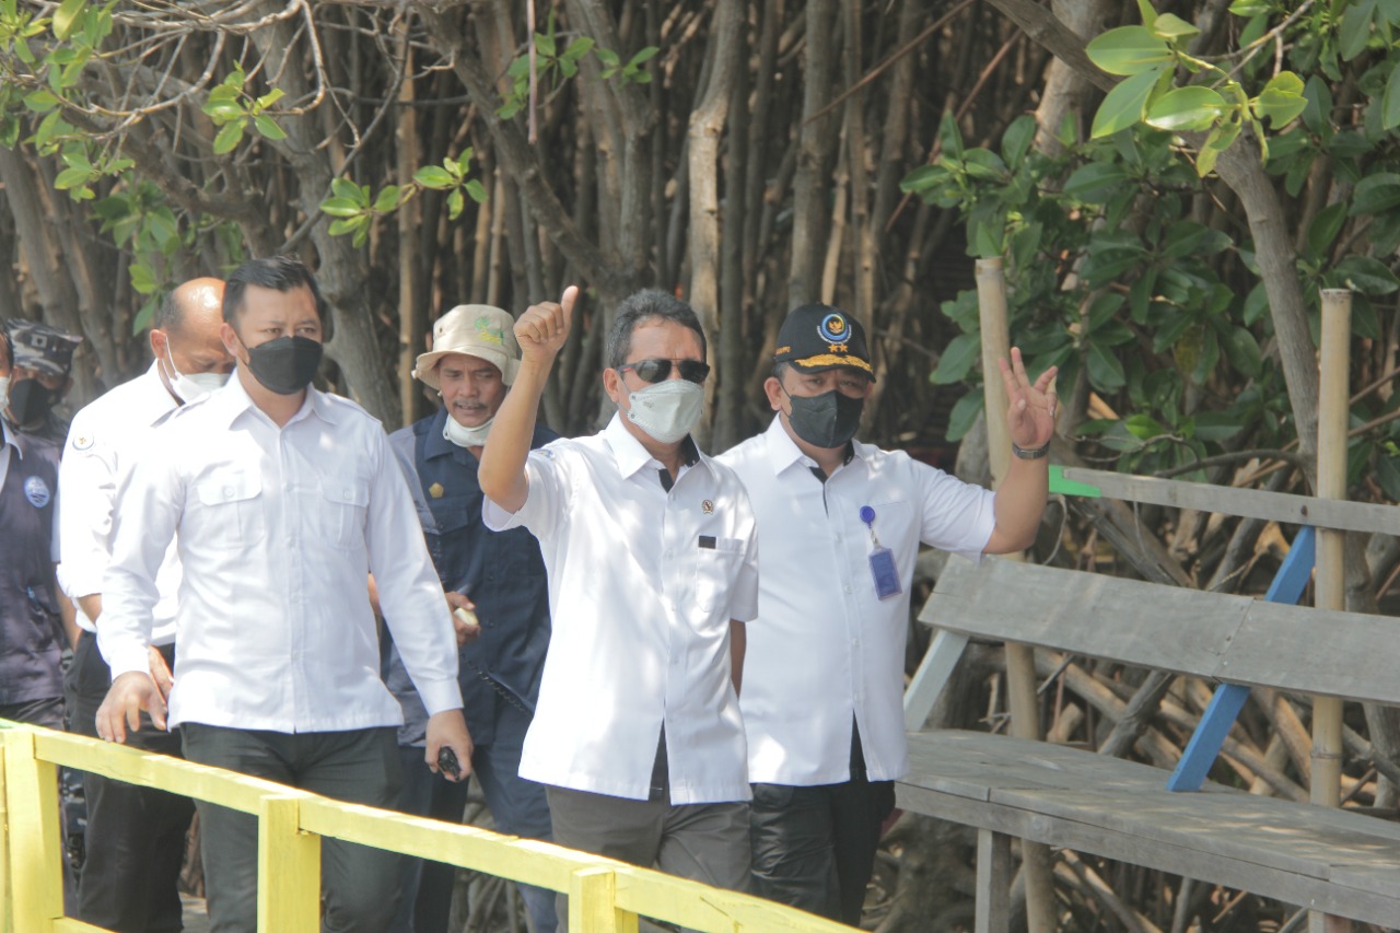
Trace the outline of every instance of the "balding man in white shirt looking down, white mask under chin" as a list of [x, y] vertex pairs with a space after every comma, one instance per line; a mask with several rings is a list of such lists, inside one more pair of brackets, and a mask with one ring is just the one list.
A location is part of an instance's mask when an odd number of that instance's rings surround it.
[[[228, 381], [234, 370], [220, 339], [224, 283], [193, 279], [176, 287], [151, 321], [153, 361], [141, 375], [118, 385], [73, 416], [59, 465], [63, 509], [59, 511], [59, 583], [78, 605], [83, 632], [67, 674], [73, 731], [97, 735], [97, 710], [112, 674], [97, 647], [102, 616], [102, 574], [112, 558], [116, 489], [150, 444], [150, 434], [181, 405]], [[171, 546], [155, 577], [150, 665], [169, 693], [175, 657], [175, 605], [179, 555]], [[150, 727], [129, 737], [141, 751], [181, 756], [179, 731]], [[185, 832], [195, 804], [164, 790], [85, 775], [87, 860], [78, 881], [77, 919], [115, 933], [179, 930], [183, 905], [179, 873]]]

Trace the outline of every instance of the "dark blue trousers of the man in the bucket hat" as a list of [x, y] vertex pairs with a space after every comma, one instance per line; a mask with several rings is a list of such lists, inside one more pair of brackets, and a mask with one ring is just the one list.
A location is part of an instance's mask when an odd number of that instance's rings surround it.
[[[472, 752], [472, 779], [480, 782], [497, 832], [524, 839], [550, 839], [549, 801], [545, 786], [519, 776], [521, 747], [531, 716], [508, 703], [497, 703], [494, 737]], [[452, 783], [428, 770], [419, 745], [402, 745], [403, 793], [399, 810], [419, 817], [462, 822], [468, 780]], [[456, 869], [441, 862], [405, 859], [403, 901], [391, 933], [447, 933], [452, 911]], [[557, 925], [554, 892], [519, 885], [535, 933], [552, 933]]]

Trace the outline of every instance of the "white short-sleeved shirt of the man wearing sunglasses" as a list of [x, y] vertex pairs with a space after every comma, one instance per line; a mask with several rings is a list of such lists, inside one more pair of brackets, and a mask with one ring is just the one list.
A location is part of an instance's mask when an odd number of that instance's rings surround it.
[[645, 800], [662, 723], [671, 801], [748, 800], [743, 723], [729, 681], [729, 619], [757, 612], [753, 511], [738, 478], [700, 455], [671, 492], [661, 464], [613, 416], [526, 461], [514, 516], [549, 574], [553, 633], [519, 773]]

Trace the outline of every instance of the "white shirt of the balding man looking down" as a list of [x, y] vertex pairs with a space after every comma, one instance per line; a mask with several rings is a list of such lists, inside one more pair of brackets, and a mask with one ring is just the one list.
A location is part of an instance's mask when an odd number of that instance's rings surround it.
[[[112, 559], [112, 507], [125, 471], [147, 448], [151, 429], [179, 405], [161, 381], [157, 363], [144, 374], [122, 382], [73, 416], [67, 447], [59, 461], [60, 560], [59, 586], [74, 602], [102, 593], [102, 574]], [[155, 574], [160, 601], [153, 608], [153, 644], [175, 640], [175, 594], [179, 588], [179, 556], [175, 545]], [[94, 619], [78, 607], [77, 621], [97, 632]]]

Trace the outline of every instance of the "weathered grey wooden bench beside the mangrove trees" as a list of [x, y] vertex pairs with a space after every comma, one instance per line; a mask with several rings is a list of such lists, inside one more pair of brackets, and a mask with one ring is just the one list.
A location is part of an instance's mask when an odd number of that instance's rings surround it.
[[[988, 558], [949, 560], [920, 619], [955, 643], [1400, 705], [1389, 616]], [[1169, 792], [1166, 770], [1049, 742], [960, 730], [909, 741], [899, 806], [979, 829], [979, 932], [1007, 929], [1011, 836], [1400, 927], [1400, 825], [1212, 783]]]

